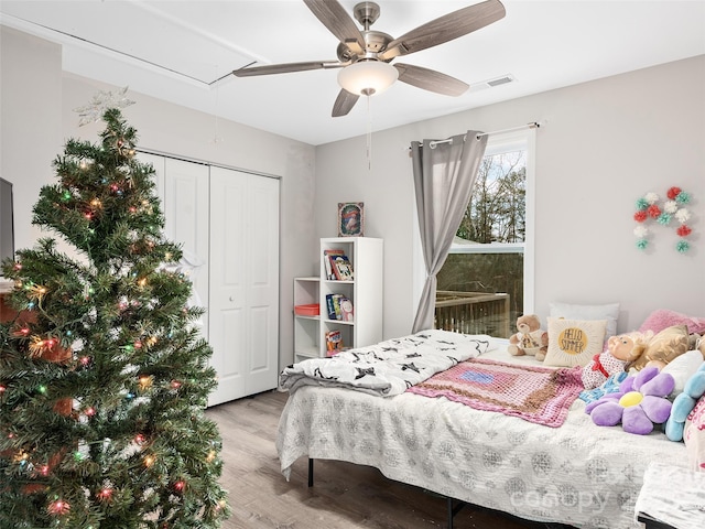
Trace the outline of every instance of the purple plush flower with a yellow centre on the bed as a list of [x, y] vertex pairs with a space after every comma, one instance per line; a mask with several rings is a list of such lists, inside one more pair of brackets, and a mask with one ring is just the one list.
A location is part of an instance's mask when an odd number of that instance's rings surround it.
[[673, 376], [660, 373], [657, 367], [646, 367], [636, 376], [627, 377], [619, 391], [608, 393], [585, 407], [598, 427], [622, 423], [625, 432], [646, 435], [653, 424], [665, 422], [671, 414], [668, 397], [675, 387]]

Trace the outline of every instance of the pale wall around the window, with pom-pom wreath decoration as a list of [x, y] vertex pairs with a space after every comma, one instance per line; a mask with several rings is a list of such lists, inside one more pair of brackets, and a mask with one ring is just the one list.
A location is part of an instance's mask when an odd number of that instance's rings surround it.
[[[410, 142], [543, 121], [534, 307], [542, 321], [551, 301], [619, 301], [619, 332], [637, 328], [654, 309], [705, 316], [704, 95], [698, 56], [377, 132], [371, 170], [364, 137], [319, 145], [317, 233], [335, 235], [338, 202], [365, 202], [366, 235], [384, 239], [384, 336], [408, 334], [415, 312]], [[652, 248], [638, 250], [637, 198], [674, 185], [693, 197], [691, 250], [674, 250], [674, 225], [654, 228]]]

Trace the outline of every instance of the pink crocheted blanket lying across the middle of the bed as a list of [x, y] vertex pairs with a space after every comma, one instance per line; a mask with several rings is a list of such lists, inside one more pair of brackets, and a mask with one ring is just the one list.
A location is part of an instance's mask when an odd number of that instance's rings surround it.
[[406, 391], [445, 397], [477, 410], [497, 411], [557, 428], [584, 389], [581, 373], [579, 366], [552, 369], [473, 359]]

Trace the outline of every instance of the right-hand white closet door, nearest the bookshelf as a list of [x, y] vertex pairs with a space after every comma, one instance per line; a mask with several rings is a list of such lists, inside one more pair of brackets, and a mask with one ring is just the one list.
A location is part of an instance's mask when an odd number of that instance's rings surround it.
[[279, 181], [210, 168], [210, 406], [276, 387]]

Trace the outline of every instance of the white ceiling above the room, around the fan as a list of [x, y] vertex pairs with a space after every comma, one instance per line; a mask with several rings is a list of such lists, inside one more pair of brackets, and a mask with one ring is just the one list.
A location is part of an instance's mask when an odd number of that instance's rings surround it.
[[[358, 0], [340, 0], [351, 13]], [[400, 36], [477, 0], [378, 0]], [[395, 83], [332, 118], [337, 69], [237, 78], [252, 62], [336, 61], [301, 0], [1, 0], [2, 24], [63, 44], [64, 69], [314, 145], [705, 54], [705, 0], [503, 0], [507, 15], [402, 58], [470, 85], [448, 97]], [[482, 82], [516, 82], [487, 88]], [[129, 93], [128, 93], [129, 96]], [[705, 97], [705, 95], [704, 95]], [[86, 101], [88, 102], [88, 101]]]

